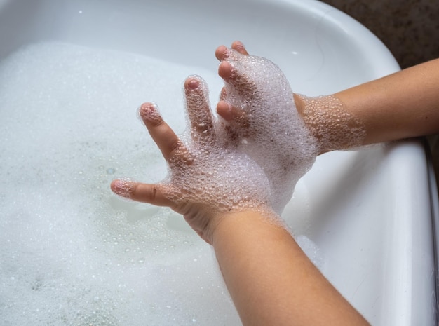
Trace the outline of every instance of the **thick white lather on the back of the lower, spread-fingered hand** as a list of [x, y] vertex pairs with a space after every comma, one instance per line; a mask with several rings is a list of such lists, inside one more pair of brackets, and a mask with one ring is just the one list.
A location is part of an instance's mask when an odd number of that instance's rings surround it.
[[172, 186], [166, 188], [168, 196], [176, 202], [205, 203], [222, 211], [266, 204], [269, 184], [259, 166], [238, 151], [211, 149], [208, 153], [194, 153], [194, 162], [189, 167], [170, 162], [173, 172], [169, 177]]

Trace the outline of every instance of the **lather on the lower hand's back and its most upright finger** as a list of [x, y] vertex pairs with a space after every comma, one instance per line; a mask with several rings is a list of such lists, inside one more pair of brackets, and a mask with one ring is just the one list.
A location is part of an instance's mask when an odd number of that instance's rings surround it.
[[[184, 144], [168, 160], [169, 176], [163, 183], [166, 196], [176, 203], [203, 203], [227, 212], [266, 205], [270, 186], [264, 171], [230, 144], [224, 133], [217, 133], [205, 81], [199, 76], [190, 76], [188, 81], [188, 128], [182, 137]], [[198, 87], [190, 86], [192, 82]], [[154, 112], [151, 116], [154, 118]]]

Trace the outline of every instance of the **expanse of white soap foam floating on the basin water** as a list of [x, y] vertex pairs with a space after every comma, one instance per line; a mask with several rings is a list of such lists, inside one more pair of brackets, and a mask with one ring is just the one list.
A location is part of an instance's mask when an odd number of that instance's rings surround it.
[[[215, 72], [60, 43], [0, 65], [2, 325], [239, 325], [208, 245], [109, 184], [166, 176], [136, 121], [154, 99], [184, 130], [182, 81]], [[215, 98], [214, 98], [215, 100]]]

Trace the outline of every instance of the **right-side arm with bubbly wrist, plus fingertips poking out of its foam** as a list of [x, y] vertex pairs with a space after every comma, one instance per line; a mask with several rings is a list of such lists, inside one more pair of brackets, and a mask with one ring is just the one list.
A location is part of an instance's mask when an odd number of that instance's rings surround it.
[[[248, 55], [241, 42], [234, 42], [232, 48]], [[219, 75], [229, 79], [231, 67], [224, 63], [222, 53], [224, 47], [219, 47]], [[294, 98], [306, 126], [320, 141], [320, 154], [439, 133], [439, 59], [333, 95], [310, 98], [295, 94]], [[240, 108], [221, 101], [217, 112], [238, 128], [245, 125]]]

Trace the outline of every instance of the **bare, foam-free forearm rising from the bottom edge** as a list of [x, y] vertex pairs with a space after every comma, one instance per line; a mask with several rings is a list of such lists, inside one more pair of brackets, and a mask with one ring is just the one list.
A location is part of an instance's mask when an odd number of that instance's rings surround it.
[[290, 233], [263, 215], [222, 219], [212, 244], [243, 325], [367, 325]]

